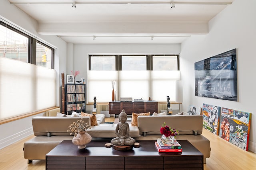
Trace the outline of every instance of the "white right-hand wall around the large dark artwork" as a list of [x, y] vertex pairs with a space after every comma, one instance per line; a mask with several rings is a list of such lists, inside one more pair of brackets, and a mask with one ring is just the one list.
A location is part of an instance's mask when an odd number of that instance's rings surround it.
[[[181, 45], [180, 70], [184, 82], [182, 109], [203, 103], [252, 113], [249, 150], [256, 152], [255, 48], [256, 1], [235, 0], [209, 23], [209, 34], [192, 36]], [[238, 102], [195, 96], [194, 63], [237, 49]], [[186, 97], [185, 97], [186, 96]]]

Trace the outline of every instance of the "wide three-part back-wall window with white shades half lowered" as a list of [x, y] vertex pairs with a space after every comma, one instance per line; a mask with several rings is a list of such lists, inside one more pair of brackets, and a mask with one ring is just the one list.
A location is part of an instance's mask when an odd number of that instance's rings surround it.
[[[109, 59], [108, 59], [109, 57]], [[99, 65], [99, 66], [98, 66]], [[104, 69], [109, 68], [110, 69]], [[115, 68], [115, 69], [114, 69]], [[91, 55], [88, 70], [88, 103], [112, 100], [114, 91], [120, 97], [142, 98], [166, 102], [175, 101], [176, 80], [180, 80], [178, 55]]]

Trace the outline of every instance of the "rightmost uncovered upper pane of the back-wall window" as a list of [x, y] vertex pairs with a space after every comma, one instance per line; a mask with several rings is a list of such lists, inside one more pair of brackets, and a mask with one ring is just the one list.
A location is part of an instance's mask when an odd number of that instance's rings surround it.
[[178, 70], [177, 56], [153, 56], [153, 70]]

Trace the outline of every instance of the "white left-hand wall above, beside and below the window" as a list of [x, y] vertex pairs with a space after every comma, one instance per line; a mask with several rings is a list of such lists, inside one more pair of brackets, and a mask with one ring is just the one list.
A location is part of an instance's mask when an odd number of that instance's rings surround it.
[[[42, 36], [36, 32], [37, 22], [18, 8], [11, 5], [7, 0], [1, 0], [0, 19], [16, 26], [18, 29], [28, 33], [34, 38], [43, 41], [44, 43], [55, 48], [55, 70], [56, 70], [56, 104], [61, 105], [61, 72], [66, 72], [66, 42], [57, 36]], [[18, 109], [18, 108], [13, 108]], [[42, 115], [38, 114], [38, 115]], [[31, 119], [34, 116], [19, 119], [9, 123], [0, 125], [0, 149], [6, 147], [20, 139], [31, 135], [32, 123]]]

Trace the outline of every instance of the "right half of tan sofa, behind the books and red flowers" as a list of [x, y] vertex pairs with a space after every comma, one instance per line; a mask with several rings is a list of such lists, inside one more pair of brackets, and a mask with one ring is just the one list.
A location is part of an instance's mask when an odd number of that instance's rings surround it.
[[140, 137], [136, 138], [136, 140], [156, 140], [160, 138], [162, 136], [160, 127], [164, 122], [169, 127], [179, 131], [178, 140], [188, 140], [204, 154], [204, 162], [206, 161], [205, 158], [210, 157], [210, 141], [202, 135], [202, 115], [138, 116]]

